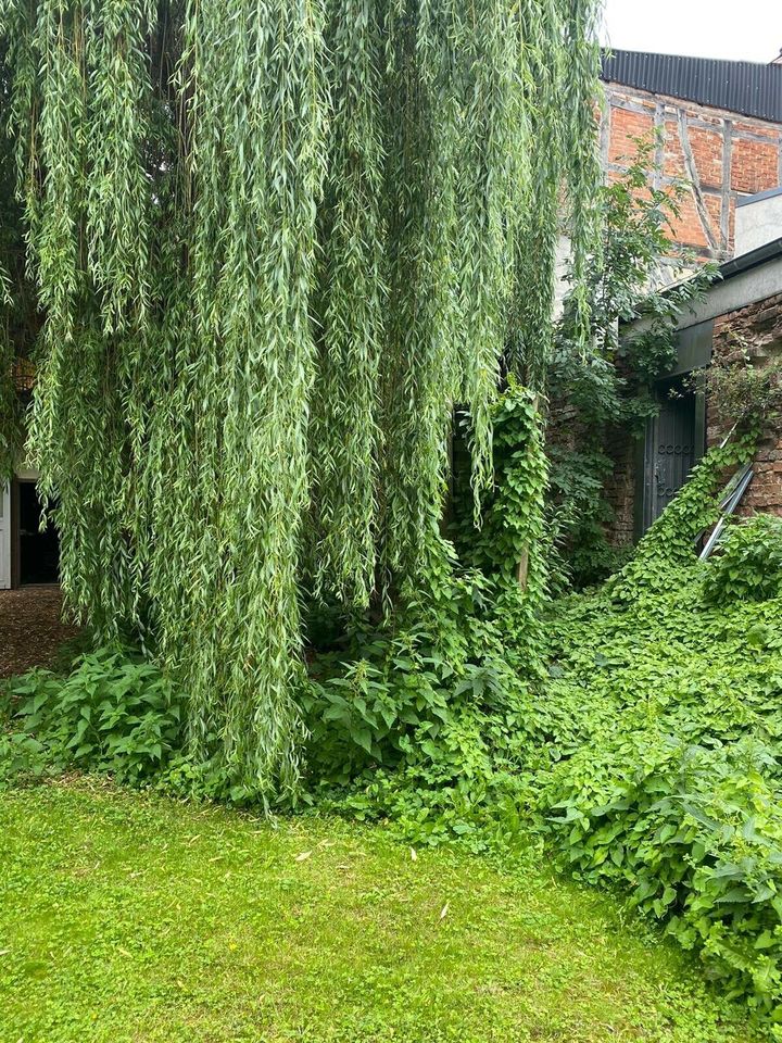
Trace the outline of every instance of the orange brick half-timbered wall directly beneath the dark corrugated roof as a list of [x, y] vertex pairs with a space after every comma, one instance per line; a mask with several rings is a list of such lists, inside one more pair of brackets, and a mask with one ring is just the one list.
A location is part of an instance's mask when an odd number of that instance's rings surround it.
[[782, 184], [782, 126], [619, 84], [605, 90], [600, 140], [606, 177], [627, 168], [634, 138], [658, 128], [665, 142], [657, 186], [674, 178], [692, 184], [676, 239], [704, 257], [731, 257], [736, 200]]

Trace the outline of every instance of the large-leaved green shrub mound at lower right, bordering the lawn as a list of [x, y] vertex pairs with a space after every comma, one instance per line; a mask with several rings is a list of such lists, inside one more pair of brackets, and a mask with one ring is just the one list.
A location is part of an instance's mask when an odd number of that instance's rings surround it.
[[[782, 1015], [782, 809], [772, 750], [620, 730], [548, 780], [550, 828], [586, 881], [701, 948], [728, 991]], [[771, 772], [771, 778], [769, 778]]]

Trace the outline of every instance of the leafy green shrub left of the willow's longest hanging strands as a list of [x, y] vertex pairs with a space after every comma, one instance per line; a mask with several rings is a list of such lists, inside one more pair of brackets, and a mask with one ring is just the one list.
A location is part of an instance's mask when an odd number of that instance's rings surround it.
[[66, 768], [108, 771], [138, 784], [181, 744], [181, 696], [153, 664], [124, 648], [81, 655], [65, 678], [34, 670], [5, 689], [12, 729], [0, 746], [5, 776]]

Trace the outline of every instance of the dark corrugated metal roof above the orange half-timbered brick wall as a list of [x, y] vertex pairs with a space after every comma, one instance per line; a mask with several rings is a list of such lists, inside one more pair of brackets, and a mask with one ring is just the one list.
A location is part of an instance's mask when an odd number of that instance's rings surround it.
[[603, 55], [603, 79], [782, 123], [782, 65], [646, 51]]

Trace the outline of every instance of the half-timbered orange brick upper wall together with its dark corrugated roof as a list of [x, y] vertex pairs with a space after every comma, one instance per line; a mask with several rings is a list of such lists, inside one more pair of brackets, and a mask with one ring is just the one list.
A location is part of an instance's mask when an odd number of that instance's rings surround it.
[[620, 176], [635, 139], [659, 137], [656, 187], [690, 185], [674, 238], [734, 256], [739, 204], [782, 185], [782, 65], [617, 51], [604, 59], [601, 161]]

